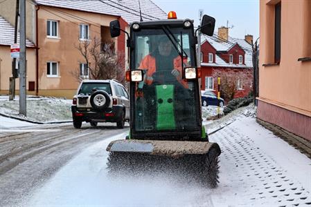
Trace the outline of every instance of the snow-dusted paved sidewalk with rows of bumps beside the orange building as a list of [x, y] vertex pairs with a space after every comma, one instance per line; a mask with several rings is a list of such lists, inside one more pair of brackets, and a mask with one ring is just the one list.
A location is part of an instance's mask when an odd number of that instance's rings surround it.
[[222, 149], [213, 206], [311, 206], [311, 160], [256, 118], [234, 121], [210, 140]]

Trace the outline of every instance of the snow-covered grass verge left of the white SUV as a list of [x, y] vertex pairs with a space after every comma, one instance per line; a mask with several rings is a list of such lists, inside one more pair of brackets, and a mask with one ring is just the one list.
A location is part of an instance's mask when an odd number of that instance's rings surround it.
[[9, 101], [8, 96], [0, 96], [0, 113], [30, 121], [69, 121], [71, 120], [71, 100], [55, 97], [26, 98], [26, 115], [19, 115], [19, 97]]

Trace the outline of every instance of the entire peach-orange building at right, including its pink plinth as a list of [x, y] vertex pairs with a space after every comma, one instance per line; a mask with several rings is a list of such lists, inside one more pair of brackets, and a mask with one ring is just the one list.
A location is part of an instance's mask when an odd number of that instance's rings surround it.
[[311, 1], [260, 1], [258, 119], [311, 141]]

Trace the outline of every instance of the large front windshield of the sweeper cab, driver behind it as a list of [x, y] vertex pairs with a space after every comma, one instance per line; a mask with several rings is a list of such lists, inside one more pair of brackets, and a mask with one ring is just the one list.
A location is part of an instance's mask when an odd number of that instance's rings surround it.
[[[190, 32], [171, 29], [166, 32], [141, 30], [135, 32], [135, 68], [143, 70], [144, 79], [134, 83], [134, 116], [136, 131], [197, 130], [199, 103], [195, 99], [196, 81], [182, 79], [182, 64], [195, 66]], [[181, 44], [183, 50], [181, 50]], [[179, 52], [178, 52], [179, 51]], [[179, 54], [183, 53], [183, 61]]]

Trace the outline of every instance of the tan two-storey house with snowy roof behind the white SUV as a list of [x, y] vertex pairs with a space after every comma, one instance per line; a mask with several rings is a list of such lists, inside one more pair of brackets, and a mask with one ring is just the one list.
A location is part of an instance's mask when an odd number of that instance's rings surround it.
[[[110, 21], [118, 19], [121, 28], [128, 30], [132, 21], [139, 21], [137, 1], [26, 1], [26, 36], [33, 42], [34, 49], [27, 53], [28, 79], [35, 81], [35, 95], [72, 98], [79, 81], [73, 74], [87, 78], [89, 71], [80, 51], [79, 42], [91, 42], [94, 37], [101, 43], [114, 42], [114, 49], [125, 52], [126, 37], [124, 33], [111, 39]], [[142, 1], [143, 18], [163, 19], [166, 13], [152, 1]], [[12, 25], [15, 21], [15, 1], [1, 3], [0, 16]], [[0, 37], [1, 39], [1, 37]], [[8, 47], [8, 50], [10, 47]], [[103, 45], [100, 46], [100, 50]], [[1, 49], [2, 51], [4, 49]], [[28, 49], [29, 50], [29, 49]], [[1, 55], [2, 53], [0, 53]], [[3, 53], [4, 54], [4, 53]], [[34, 55], [30, 57], [28, 55]], [[10, 65], [10, 53], [2, 57]], [[30, 59], [33, 59], [30, 63]], [[125, 57], [125, 63], [127, 57]], [[125, 64], [126, 65], [126, 64]], [[11, 70], [10, 70], [11, 71]], [[10, 71], [1, 72], [1, 93], [8, 92]], [[3, 82], [3, 83], [2, 83]], [[32, 83], [33, 84], [33, 83]], [[7, 87], [6, 87], [7, 86]], [[18, 89], [18, 88], [17, 88]]]

